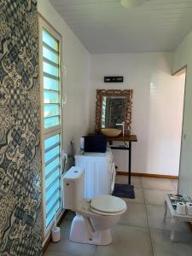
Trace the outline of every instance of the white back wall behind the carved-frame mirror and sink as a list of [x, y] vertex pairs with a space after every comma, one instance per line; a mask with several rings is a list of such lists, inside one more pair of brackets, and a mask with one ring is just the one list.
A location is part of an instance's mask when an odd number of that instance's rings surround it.
[[[90, 124], [95, 127], [96, 89], [133, 89], [132, 172], [177, 175], [182, 132], [184, 78], [172, 77], [172, 53], [92, 55]], [[122, 75], [123, 84], [104, 84], [105, 75]], [[115, 151], [119, 171], [127, 152]]]

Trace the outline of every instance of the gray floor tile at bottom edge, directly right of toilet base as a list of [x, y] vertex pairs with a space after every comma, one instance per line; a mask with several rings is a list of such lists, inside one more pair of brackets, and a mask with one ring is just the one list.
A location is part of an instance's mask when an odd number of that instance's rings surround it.
[[96, 247], [96, 256], [151, 256], [152, 247], [147, 229], [116, 225], [110, 245]]

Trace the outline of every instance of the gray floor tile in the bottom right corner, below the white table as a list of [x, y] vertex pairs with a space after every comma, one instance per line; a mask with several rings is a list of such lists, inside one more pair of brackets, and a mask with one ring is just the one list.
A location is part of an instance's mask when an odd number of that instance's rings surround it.
[[192, 235], [176, 233], [175, 241], [170, 240], [167, 230], [150, 230], [154, 256], [192, 255]]

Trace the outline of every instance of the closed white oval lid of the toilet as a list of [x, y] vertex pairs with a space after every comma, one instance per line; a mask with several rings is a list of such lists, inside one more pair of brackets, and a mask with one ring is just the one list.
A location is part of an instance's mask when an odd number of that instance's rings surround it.
[[122, 212], [126, 208], [125, 201], [113, 195], [98, 195], [90, 202], [90, 207], [99, 212]]

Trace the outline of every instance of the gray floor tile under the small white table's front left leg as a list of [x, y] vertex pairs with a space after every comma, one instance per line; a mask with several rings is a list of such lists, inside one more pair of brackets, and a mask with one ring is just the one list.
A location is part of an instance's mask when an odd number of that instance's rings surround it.
[[[147, 205], [146, 208], [149, 228], [172, 230], [170, 213], [167, 214], [167, 218], [164, 220], [164, 207]], [[188, 225], [183, 222], [177, 222], [176, 230], [180, 232], [190, 232]]]

